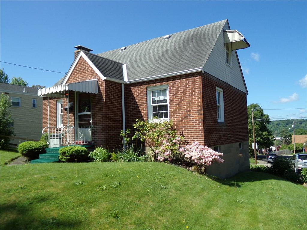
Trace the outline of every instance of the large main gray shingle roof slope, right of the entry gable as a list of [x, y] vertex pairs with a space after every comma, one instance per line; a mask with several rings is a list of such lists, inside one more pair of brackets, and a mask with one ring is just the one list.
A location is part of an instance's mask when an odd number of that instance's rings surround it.
[[128, 80], [204, 67], [226, 20], [97, 54], [126, 63]]

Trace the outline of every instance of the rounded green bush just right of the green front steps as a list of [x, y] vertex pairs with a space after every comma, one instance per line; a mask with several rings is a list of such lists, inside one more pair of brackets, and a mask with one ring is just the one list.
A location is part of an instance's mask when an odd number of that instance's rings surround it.
[[86, 148], [81, 146], [68, 146], [64, 148], [60, 148], [59, 150], [60, 161], [64, 162], [81, 162], [86, 161], [88, 158], [88, 151]]

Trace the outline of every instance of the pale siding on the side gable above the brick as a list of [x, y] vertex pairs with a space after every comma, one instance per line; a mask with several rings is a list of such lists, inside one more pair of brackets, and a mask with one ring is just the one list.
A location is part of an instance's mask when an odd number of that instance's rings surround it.
[[[225, 23], [223, 29], [229, 30], [227, 23]], [[224, 35], [223, 31], [221, 31], [216, 44], [204, 65], [204, 71], [224, 82], [227, 82], [244, 93], [247, 93], [236, 52], [231, 52], [231, 67], [226, 64], [225, 55]]]

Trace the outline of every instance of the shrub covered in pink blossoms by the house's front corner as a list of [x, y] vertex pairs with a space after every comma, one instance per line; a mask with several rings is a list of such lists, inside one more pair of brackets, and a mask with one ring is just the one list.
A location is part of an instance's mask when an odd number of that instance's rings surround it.
[[223, 153], [216, 152], [207, 146], [200, 145], [198, 142], [187, 145], [185, 148], [180, 148], [179, 151], [184, 153], [186, 158], [198, 165], [209, 166], [214, 162], [224, 162], [224, 160], [220, 158], [223, 156]]

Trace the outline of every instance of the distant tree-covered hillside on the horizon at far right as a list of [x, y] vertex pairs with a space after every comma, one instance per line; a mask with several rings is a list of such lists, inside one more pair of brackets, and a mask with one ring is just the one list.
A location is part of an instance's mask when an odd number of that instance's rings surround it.
[[[295, 134], [297, 135], [303, 135], [307, 134], [307, 120], [301, 119], [287, 119], [287, 120], [278, 120], [278, 121], [271, 121], [267, 127], [272, 131], [273, 135], [274, 132], [276, 131], [276, 136], [279, 137], [280, 131], [282, 129], [287, 128], [289, 130], [289, 133], [293, 134], [293, 121], [296, 123], [295, 124]], [[290, 128], [290, 129], [289, 129]]]

